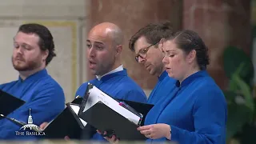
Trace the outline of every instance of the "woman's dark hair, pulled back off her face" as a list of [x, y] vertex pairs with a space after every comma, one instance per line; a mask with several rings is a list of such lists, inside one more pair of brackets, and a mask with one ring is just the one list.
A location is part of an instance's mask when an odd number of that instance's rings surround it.
[[166, 40], [174, 40], [178, 48], [189, 54], [191, 50], [196, 51], [196, 58], [200, 70], [206, 70], [209, 65], [208, 48], [200, 36], [192, 30], [182, 30], [170, 35]]

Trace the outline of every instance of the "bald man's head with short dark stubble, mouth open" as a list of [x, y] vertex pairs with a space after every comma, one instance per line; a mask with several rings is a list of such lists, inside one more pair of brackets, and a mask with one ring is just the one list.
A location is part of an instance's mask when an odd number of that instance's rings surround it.
[[103, 75], [121, 66], [122, 30], [110, 22], [94, 26], [86, 40], [89, 68], [94, 75]]

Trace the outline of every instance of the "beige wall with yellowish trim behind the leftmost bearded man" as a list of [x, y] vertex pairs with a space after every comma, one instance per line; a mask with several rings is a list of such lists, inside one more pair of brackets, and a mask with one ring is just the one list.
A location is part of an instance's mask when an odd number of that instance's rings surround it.
[[0, 83], [18, 78], [10, 56], [14, 34], [24, 22], [39, 22], [49, 27], [54, 35], [57, 57], [47, 70], [62, 86], [66, 101], [74, 99], [78, 86], [87, 80], [83, 55], [86, 31], [84, 0], [8, 0], [0, 3], [0, 49], [2, 70]]

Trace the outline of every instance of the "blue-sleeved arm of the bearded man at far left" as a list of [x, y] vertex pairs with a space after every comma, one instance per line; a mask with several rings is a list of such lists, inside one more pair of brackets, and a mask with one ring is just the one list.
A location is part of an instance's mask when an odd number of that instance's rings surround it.
[[[26, 122], [29, 116], [29, 110], [31, 109], [31, 115], [33, 118], [33, 123], [37, 126], [42, 124], [42, 122], [50, 122], [54, 119], [62, 110], [65, 108], [65, 97], [62, 88], [55, 86], [51, 83], [46, 83], [40, 86], [33, 95], [31, 95], [30, 102], [15, 110], [14, 113], [8, 115], [10, 118], [16, 118], [19, 121]], [[5, 132], [1, 137], [3, 138], [37, 138], [37, 136], [17, 136], [15, 131], [20, 130], [21, 126], [14, 124], [6, 120], [4, 122]], [[26, 133], [26, 131], [24, 131]]]

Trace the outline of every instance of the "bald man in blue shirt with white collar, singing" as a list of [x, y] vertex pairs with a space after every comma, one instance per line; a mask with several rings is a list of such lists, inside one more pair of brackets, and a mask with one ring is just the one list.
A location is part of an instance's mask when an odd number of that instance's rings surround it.
[[[96, 76], [90, 83], [113, 98], [146, 102], [146, 94], [127, 75], [126, 69], [122, 66], [121, 53], [124, 38], [122, 30], [113, 23], [104, 22], [94, 26], [87, 38], [86, 54], [89, 69]], [[78, 88], [76, 97], [83, 97], [87, 83], [83, 83]], [[105, 141], [100, 134], [96, 133], [96, 130], [94, 133], [92, 139]], [[88, 135], [83, 134], [83, 137], [88, 138]]]

